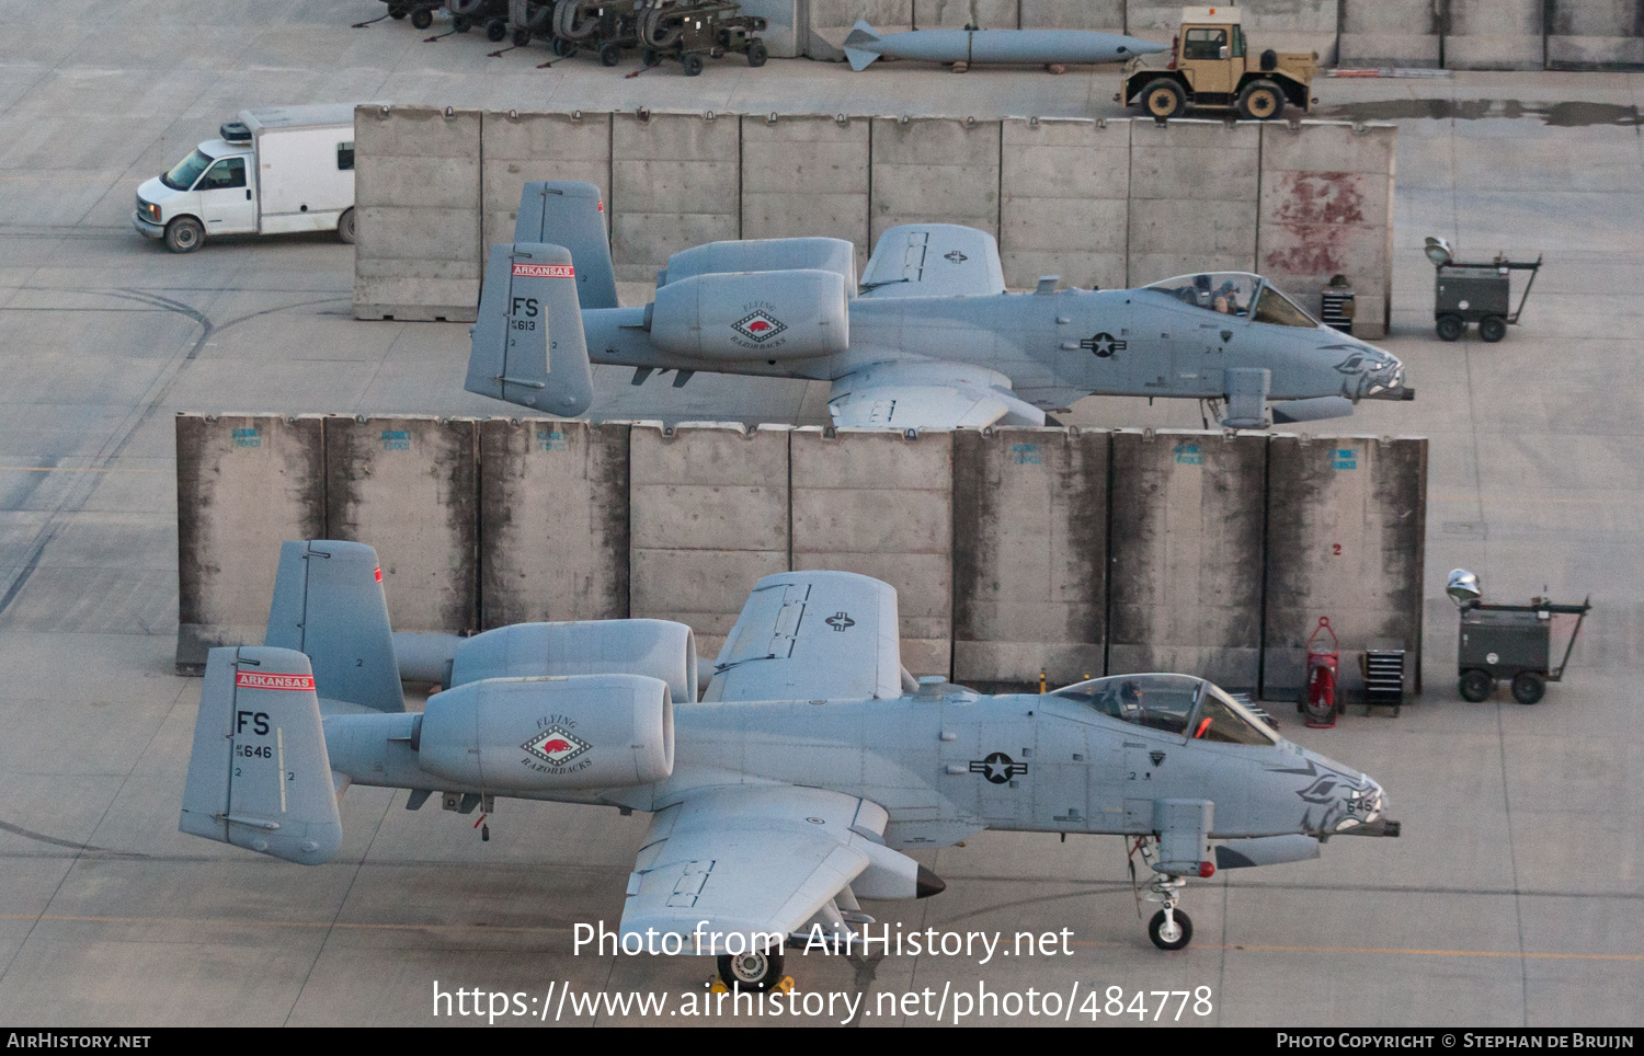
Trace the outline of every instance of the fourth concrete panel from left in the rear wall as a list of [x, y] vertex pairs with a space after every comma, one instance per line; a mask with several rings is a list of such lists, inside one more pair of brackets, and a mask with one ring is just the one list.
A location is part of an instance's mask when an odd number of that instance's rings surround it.
[[868, 120], [741, 118], [741, 236], [850, 238], [868, 263]]

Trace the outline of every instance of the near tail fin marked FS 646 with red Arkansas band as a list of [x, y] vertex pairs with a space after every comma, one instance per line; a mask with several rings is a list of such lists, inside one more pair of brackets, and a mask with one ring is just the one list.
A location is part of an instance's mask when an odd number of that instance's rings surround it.
[[342, 818], [306, 655], [210, 650], [178, 829], [302, 865], [337, 852]]

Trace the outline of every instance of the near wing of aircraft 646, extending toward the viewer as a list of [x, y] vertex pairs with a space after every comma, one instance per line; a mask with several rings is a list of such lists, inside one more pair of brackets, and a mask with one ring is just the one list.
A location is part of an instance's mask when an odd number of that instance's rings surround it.
[[700, 954], [741, 953], [727, 949], [728, 934], [786, 939], [871, 862], [906, 859], [865, 836], [883, 828], [884, 810], [838, 792], [699, 788], [653, 815], [628, 877], [621, 931], [682, 934], [686, 953]]

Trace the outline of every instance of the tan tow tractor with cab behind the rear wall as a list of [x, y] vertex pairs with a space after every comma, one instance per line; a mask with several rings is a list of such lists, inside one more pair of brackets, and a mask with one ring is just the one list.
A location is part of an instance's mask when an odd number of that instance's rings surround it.
[[[1164, 57], [1157, 56], [1156, 59]], [[1249, 54], [1236, 7], [1184, 7], [1171, 61], [1164, 69], [1144, 56], [1124, 66], [1124, 90], [1113, 97], [1156, 118], [1182, 117], [1192, 107], [1236, 110], [1268, 122], [1291, 105], [1307, 110], [1318, 53]]]

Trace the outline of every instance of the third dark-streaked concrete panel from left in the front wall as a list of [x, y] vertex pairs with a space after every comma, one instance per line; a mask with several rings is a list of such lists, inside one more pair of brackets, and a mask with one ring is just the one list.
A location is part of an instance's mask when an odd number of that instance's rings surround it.
[[480, 422], [480, 626], [628, 616], [628, 425]]

